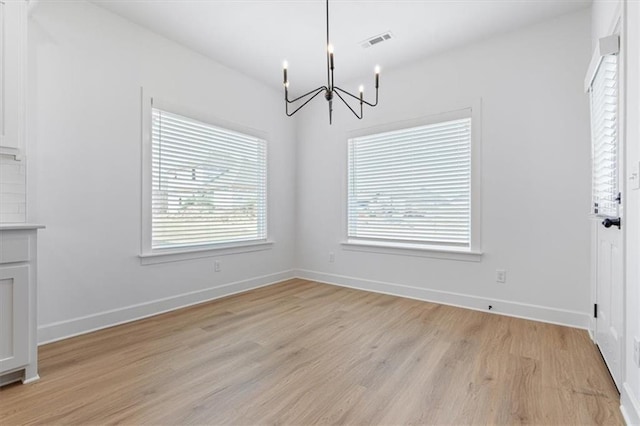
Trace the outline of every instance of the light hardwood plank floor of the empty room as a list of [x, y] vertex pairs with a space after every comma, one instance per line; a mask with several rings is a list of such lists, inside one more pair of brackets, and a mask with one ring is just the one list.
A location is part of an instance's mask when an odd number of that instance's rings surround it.
[[40, 348], [0, 424], [623, 424], [583, 330], [290, 280]]

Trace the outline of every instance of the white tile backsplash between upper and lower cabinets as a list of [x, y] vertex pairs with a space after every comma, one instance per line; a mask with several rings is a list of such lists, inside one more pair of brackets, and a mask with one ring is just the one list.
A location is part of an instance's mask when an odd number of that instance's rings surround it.
[[0, 155], [0, 223], [27, 218], [26, 164]]

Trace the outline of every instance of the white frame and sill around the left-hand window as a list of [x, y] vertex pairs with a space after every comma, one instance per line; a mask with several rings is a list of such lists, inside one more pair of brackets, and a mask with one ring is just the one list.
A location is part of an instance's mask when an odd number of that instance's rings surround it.
[[[269, 143], [267, 135], [256, 129], [246, 128], [238, 124], [224, 122], [217, 117], [197, 111], [192, 107], [186, 107], [175, 102], [171, 102], [162, 97], [151, 96], [147, 91], [141, 89], [141, 139], [142, 139], [142, 170], [141, 170], [141, 244], [138, 257], [143, 265], [156, 264], [164, 262], [173, 262], [189, 259], [198, 259], [204, 257], [224, 256], [238, 253], [248, 253], [253, 251], [268, 250], [273, 246], [270, 239], [270, 214], [269, 214]], [[153, 140], [152, 140], [152, 110], [160, 109], [184, 117], [200, 121], [211, 126], [220, 127], [248, 136], [262, 139], [265, 142], [265, 227], [266, 238], [251, 241], [239, 241], [228, 243], [212, 243], [203, 245], [168, 247], [168, 248], [152, 248], [152, 165], [153, 165]]]

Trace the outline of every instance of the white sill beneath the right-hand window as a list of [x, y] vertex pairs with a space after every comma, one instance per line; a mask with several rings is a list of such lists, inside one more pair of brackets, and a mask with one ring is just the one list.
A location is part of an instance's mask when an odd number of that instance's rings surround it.
[[434, 259], [461, 260], [480, 262], [482, 252], [468, 249], [444, 248], [438, 246], [392, 245], [373, 241], [346, 241], [342, 243], [345, 250], [368, 253], [395, 254], [401, 256], [431, 257]]

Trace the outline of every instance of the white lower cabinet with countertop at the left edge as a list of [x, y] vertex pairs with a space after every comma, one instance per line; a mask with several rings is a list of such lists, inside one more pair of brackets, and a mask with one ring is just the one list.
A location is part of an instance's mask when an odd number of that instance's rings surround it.
[[0, 224], [0, 386], [37, 380], [37, 230]]

